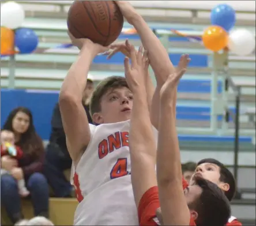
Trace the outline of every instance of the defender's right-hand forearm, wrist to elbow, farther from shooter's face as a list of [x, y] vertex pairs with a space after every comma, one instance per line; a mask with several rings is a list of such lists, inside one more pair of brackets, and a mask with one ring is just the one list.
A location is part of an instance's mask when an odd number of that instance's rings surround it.
[[160, 107], [159, 140], [157, 146], [157, 182], [180, 180], [182, 171], [180, 165], [179, 141], [176, 133], [173, 104], [163, 104]]

